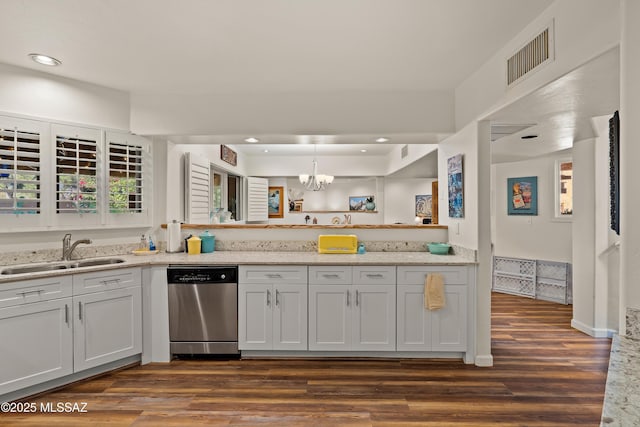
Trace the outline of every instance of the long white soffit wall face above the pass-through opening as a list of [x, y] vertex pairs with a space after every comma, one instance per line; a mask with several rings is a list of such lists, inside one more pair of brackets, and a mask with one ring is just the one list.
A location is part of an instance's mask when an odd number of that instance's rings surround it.
[[[343, 134], [449, 133], [453, 101], [451, 91], [441, 90], [134, 93], [131, 129], [144, 135], [278, 135], [291, 133], [295, 123], [298, 135], [331, 129]], [[348, 106], [351, 113], [342, 114], [336, 105]]]

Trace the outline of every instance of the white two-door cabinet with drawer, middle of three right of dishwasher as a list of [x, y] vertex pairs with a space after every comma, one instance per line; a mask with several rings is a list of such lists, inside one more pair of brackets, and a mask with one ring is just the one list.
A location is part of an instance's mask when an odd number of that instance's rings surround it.
[[310, 266], [309, 350], [395, 350], [393, 272], [390, 266]]

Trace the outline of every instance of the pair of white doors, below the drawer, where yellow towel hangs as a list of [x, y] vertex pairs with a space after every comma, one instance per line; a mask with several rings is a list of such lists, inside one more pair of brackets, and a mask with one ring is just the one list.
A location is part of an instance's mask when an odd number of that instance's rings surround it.
[[466, 351], [467, 286], [446, 285], [445, 307], [424, 308], [424, 285], [398, 285], [398, 351]]

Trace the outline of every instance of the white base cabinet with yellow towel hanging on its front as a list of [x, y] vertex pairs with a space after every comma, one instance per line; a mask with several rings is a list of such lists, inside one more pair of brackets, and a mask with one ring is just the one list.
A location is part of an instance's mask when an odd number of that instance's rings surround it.
[[[427, 274], [445, 282], [445, 307], [424, 307]], [[398, 267], [398, 351], [467, 350], [466, 267]]]

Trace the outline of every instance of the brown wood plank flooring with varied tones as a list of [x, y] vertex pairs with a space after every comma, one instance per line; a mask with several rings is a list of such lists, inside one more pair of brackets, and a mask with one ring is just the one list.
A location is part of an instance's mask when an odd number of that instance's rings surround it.
[[597, 426], [610, 340], [571, 306], [493, 295], [494, 367], [447, 360], [180, 360], [26, 402], [87, 413], [0, 414], [29, 426]]

